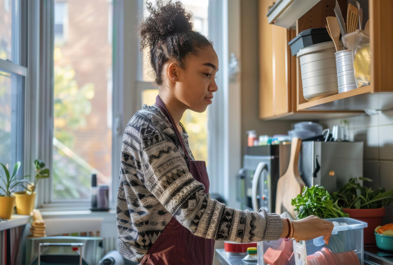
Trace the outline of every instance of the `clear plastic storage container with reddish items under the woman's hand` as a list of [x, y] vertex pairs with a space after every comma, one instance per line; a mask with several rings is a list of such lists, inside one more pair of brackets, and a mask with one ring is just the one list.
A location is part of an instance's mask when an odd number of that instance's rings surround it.
[[260, 241], [258, 265], [357, 265], [363, 264], [363, 228], [367, 223], [342, 217], [327, 219], [334, 229], [326, 245], [323, 237], [307, 241]]

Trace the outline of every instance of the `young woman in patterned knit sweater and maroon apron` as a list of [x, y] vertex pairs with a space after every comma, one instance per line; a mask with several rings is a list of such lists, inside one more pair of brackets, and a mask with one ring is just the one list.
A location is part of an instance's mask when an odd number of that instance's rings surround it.
[[[215, 240], [255, 242], [325, 236], [331, 222], [298, 221], [237, 210], [209, 196], [204, 161], [195, 161], [180, 123], [185, 110], [203, 112], [217, 91], [219, 60], [193, 31], [180, 2], [147, 5], [142, 48], [150, 49], [159, 92], [125, 128], [117, 199], [118, 251], [141, 264], [212, 264]], [[213, 176], [214, 177], [214, 176]]]

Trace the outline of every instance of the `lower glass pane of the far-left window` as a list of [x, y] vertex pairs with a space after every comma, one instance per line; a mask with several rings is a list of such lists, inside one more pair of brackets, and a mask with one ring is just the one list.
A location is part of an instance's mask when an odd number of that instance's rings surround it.
[[24, 77], [0, 69], [0, 162], [9, 170], [23, 163], [24, 86]]

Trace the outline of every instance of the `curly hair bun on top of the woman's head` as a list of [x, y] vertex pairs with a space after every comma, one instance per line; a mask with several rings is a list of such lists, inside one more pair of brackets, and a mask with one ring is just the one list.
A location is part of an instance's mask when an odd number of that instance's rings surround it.
[[173, 33], [186, 33], [193, 30], [192, 14], [187, 13], [181, 2], [157, 0], [153, 5], [147, 2], [150, 15], [141, 24], [142, 48], [154, 46], [158, 40], [167, 38]]

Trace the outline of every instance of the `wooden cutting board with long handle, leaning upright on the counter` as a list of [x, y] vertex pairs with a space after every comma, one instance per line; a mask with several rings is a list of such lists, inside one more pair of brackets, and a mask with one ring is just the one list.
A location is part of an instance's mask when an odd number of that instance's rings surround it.
[[295, 218], [294, 206], [291, 205], [293, 198], [301, 193], [305, 186], [299, 174], [298, 161], [301, 148], [301, 139], [293, 138], [291, 143], [291, 154], [288, 169], [277, 182], [277, 197], [275, 199], [275, 213], [288, 212]]

